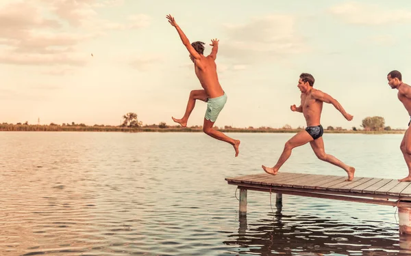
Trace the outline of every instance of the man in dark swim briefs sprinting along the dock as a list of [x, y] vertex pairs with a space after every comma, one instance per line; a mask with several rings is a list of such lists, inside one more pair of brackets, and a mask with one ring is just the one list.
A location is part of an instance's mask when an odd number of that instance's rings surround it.
[[282, 165], [284, 165], [284, 162], [286, 162], [286, 160], [290, 157], [293, 148], [310, 142], [312, 150], [314, 150], [315, 155], [320, 160], [329, 162], [332, 165], [336, 165], [344, 169], [348, 174], [348, 178], [345, 181], [351, 181], [354, 178], [356, 169], [354, 167], [345, 165], [344, 162], [341, 162], [336, 157], [325, 153], [324, 141], [322, 137], [323, 126], [321, 126], [320, 122], [321, 112], [323, 111], [323, 102], [333, 104], [334, 107], [338, 109], [338, 111], [340, 111], [340, 113], [343, 114], [345, 119], [347, 119], [348, 121], [351, 121], [353, 119], [353, 116], [345, 112], [343, 106], [341, 106], [337, 100], [332, 98], [332, 96], [325, 94], [319, 89], [314, 89], [314, 81], [314, 77], [311, 74], [302, 73], [299, 76], [297, 87], [301, 91], [301, 104], [300, 106], [292, 105], [290, 107], [291, 111], [303, 113], [304, 117], [306, 118], [307, 128], [305, 130], [302, 130], [301, 132], [298, 132], [294, 137], [286, 142], [284, 151], [282, 152], [282, 155], [279, 157], [279, 160], [274, 167], [269, 168], [262, 165], [262, 169], [264, 169], [266, 173], [276, 175], [279, 168], [282, 167]]

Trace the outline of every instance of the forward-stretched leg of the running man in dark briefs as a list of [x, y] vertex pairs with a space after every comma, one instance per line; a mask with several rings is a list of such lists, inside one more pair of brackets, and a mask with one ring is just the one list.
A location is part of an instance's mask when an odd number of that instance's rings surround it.
[[292, 149], [304, 145], [310, 141], [312, 141], [311, 135], [308, 134], [306, 130], [301, 130], [301, 132], [298, 132], [286, 142], [286, 145], [284, 145], [284, 150], [279, 157], [277, 164], [273, 168], [265, 167], [264, 165], [262, 165], [262, 169], [266, 173], [276, 175], [279, 168], [282, 167], [282, 165], [284, 165], [284, 162], [286, 162], [286, 160], [291, 156]]

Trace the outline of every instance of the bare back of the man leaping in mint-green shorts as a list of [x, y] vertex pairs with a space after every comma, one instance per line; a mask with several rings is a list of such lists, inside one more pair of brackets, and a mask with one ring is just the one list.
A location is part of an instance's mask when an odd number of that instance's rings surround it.
[[195, 74], [199, 79], [201, 86], [206, 91], [208, 98], [217, 98], [223, 96], [224, 91], [219, 82], [217, 75], [217, 66], [211, 57], [201, 56], [201, 60], [195, 60]]

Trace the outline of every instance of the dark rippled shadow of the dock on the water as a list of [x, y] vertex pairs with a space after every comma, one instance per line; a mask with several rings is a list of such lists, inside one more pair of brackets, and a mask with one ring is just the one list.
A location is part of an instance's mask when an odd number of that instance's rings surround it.
[[411, 236], [400, 236], [386, 223], [353, 225], [332, 218], [284, 215], [278, 203], [268, 216], [250, 225], [247, 216], [240, 216], [238, 233], [223, 243], [236, 246], [238, 255], [240, 251], [256, 255], [411, 255]]

